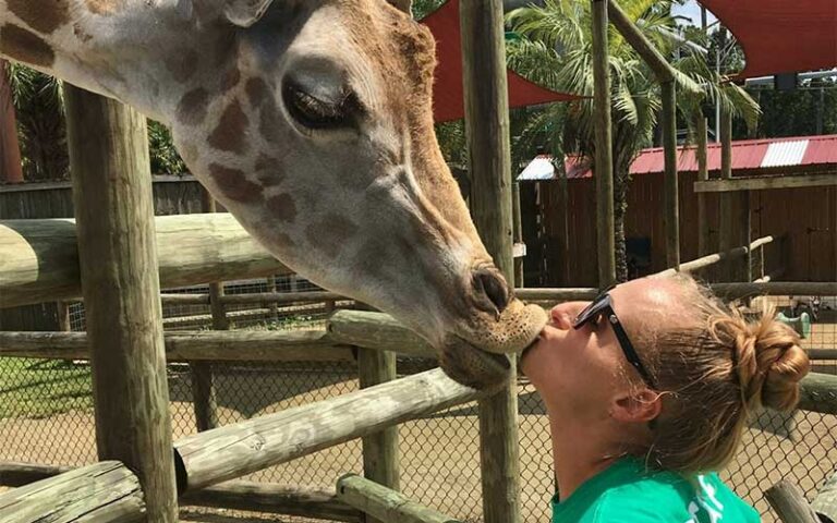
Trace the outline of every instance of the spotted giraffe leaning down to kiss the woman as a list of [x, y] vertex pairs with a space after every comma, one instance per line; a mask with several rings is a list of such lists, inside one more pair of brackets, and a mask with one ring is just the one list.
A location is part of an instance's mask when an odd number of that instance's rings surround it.
[[272, 255], [387, 312], [492, 387], [538, 336], [433, 129], [435, 44], [407, 0], [0, 0], [0, 56], [171, 129]]

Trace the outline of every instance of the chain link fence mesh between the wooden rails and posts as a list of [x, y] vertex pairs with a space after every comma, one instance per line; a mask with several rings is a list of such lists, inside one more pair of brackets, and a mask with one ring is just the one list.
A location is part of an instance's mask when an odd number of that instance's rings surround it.
[[[278, 291], [291, 283], [277, 282]], [[310, 283], [296, 283], [316, 290]], [[267, 282], [234, 282], [228, 293], [267, 292]], [[206, 292], [190, 288], [180, 292]], [[167, 291], [167, 293], [170, 291]], [[780, 306], [781, 300], [777, 301]], [[253, 306], [250, 306], [253, 309]], [[318, 328], [325, 312], [307, 313], [294, 307], [256, 306], [246, 319], [233, 319], [234, 328]], [[242, 311], [246, 311], [242, 308]], [[264, 314], [263, 314], [264, 313]], [[190, 329], [209, 328], [205, 306], [170, 306], [167, 318], [205, 316]], [[73, 329], [83, 329], [83, 307], [71, 307]], [[169, 325], [169, 328], [175, 328]], [[177, 326], [181, 328], [181, 326]], [[837, 312], [821, 307], [817, 323], [805, 339], [805, 348], [835, 349]], [[399, 360], [399, 374], [427, 369], [433, 362]], [[835, 361], [815, 362], [817, 372], [837, 374]], [[352, 364], [282, 363], [213, 365], [220, 424], [278, 412], [290, 406], [332, 398], [357, 389]], [[187, 364], [168, 369], [174, 438], [195, 431], [192, 373]], [[0, 358], [0, 460], [58, 465], [96, 461], [90, 373], [86, 362]], [[549, 426], [534, 388], [519, 386], [521, 504], [523, 521], [549, 520], [554, 492]], [[400, 425], [401, 487], [407, 496], [466, 522], [482, 520], [478, 419], [474, 403], [451, 408]], [[361, 443], [350, 441], [293, 462], [266, 469], [244, 479], [286, 485], [329, 487], [345, 472], [362, 472]], [[780, 415], [764, 412], [751, 424], [736, 461], [723, 473], [736, 491], [753, 503], [764, 521], [776, 521], [763, 491], [780, 478], [791, 478], [813, 495], [837, 472], [837, 416], [811, 412]], [[244, 521], [308, 523], [291, 516], [257, 516], [216, 509], [187, 508], [184, 521]]]

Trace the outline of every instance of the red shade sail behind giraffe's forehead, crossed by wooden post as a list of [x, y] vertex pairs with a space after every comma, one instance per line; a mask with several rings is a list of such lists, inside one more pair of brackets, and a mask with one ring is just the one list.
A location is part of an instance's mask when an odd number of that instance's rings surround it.
[[[436, 78], [433, 114], [437, 122], [464, 118], [462, 88], [462, 35], [459, 26], [459, 0], [449, 0], [427, 15], [422, 23], [436, 38]], [[533, 106], [549, 101], [574, 100], [577, 96], [539, 87], [509, 71], [509, 107]]]

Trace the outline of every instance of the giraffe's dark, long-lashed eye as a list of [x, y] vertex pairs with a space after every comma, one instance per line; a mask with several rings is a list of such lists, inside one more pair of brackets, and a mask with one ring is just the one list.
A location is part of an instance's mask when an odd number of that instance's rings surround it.
[[287, 82], [282, 89], [284, 105], [296, 122], [311, 130], [337, 130], [352, 125], [357, 107], [354, 97], [341, 95], [338, 100], [324, 100]]

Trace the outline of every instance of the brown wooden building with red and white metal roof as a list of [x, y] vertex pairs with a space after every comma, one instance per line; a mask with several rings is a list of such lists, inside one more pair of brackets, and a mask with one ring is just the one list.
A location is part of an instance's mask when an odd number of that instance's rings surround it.
[[[735, 142], [733, 177], [809, 177], [820, 186], [749, 191], [752, 238], [783, 236], [767, 248], [766, 271], [783, 280], [837, 281], [837, 135]], [[693, 147], [678, 150], [680, 259], [696, 258], [698, 194]], [[708, 148], [711, 179], [720, 169], [720, 146]], [[596, 282], [595, 184], [583, 161], [568, 159], [565, 183], [549, 157], [535, 158], [520, 174], [524, 270], [530, 287], [583, 287]], [[646, 149], [631, 167], [626, 238], [632, 276], [665, 269], [663, 153]], [[834, 179], [832, 180], [832, 177]], [[712, 251], [717, 251], [718, 194], [706, 193]], [[565, 232], [566, 231], [566, 232]], [[566, 239], [565, 239], [566, 236]], [[562, 256], [563, 245], [568, 254]], [[784, 251], [784, 252], [783, 252]], [[707, 254], [707, 253], [701, 253]], [[784, 267], [780, 267], [784, 265]]]

